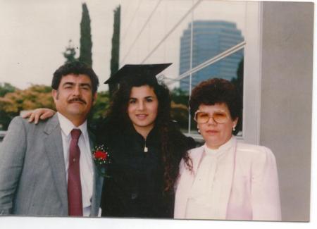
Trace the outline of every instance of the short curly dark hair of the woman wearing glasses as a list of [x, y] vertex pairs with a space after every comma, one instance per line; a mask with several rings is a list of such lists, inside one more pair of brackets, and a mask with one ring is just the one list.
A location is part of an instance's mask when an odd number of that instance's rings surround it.
[[220, 78], [203, 81], [192, 89], [192, 95], [189, 99], [190, 114], [194, 117], [194, 113], [201, 104], [215, 105], [222, 103], [228, 106], [232, 120], [240, 118], [242, 99], [235, 85], [228, 80]]

